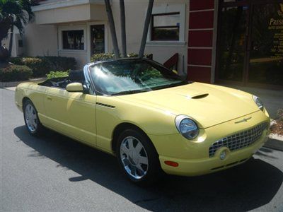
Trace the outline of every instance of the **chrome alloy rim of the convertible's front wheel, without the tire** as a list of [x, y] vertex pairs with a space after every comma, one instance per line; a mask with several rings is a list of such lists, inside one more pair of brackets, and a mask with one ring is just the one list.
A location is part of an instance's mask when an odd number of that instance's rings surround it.
[[128, 136], [123, 139], [120, 146], [120, 157], [126, 172], [134, 179], [141, 179], [146, 175], [149, 160], [144, 146], [137, 138]]

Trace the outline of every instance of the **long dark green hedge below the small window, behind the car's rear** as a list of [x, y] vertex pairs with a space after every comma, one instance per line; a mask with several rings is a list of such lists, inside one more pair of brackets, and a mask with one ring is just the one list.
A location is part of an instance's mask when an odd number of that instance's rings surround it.
[[33, 71], [33, 76], [45, 76], [53, 70], [76, 69], [76, 59], [74, 57], [12, 57], [11, 63], [28, 66]]

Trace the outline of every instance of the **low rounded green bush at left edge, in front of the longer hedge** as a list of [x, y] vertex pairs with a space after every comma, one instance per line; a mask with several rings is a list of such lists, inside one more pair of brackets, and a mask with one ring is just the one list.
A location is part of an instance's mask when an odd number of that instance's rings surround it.
[[33, 75], [28, 66], [10, 65], [0, 69], [0, 81], [25, 81]]

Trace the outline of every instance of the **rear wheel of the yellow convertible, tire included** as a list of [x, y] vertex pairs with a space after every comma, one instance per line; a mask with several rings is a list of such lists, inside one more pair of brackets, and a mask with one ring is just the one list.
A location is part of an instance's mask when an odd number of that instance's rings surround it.
[[23, 119], [28, 132], [33, 136], [40, 136], [43, 131], [43, 126], [38, 118], [35, 105], [30, 100], [23, 102]]

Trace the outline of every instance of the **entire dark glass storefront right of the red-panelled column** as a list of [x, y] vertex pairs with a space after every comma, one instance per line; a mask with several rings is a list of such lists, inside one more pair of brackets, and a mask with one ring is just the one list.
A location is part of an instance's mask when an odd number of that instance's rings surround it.
[[283, 1], [219, 2], [215, 82], [283, 87]]

